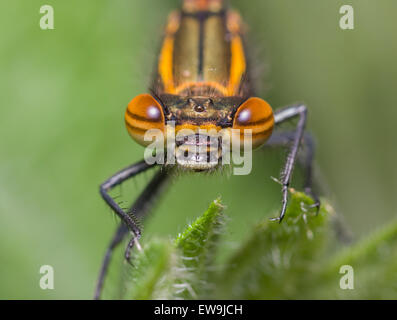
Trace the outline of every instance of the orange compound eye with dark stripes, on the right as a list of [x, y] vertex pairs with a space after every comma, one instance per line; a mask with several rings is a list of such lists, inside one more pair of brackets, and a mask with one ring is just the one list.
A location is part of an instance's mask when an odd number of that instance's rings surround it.
[[260, 98], [249, 98], [234, 116], [233, 129], [240, 130], [240, 145], [243, 146], [244, 130], [252, 130], [252, 148], [264, 144], [273, 132], [274, 116], [270, 105]]

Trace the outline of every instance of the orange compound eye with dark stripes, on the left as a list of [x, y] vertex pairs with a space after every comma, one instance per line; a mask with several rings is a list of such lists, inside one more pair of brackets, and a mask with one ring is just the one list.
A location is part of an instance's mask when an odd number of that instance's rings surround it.
[[163, 108], [150, 94], [140, 94], [131, 100], [125, 112], [125, 125], [130, 136], [139, 144], [147, 146], [147, 130], [157, 129], [164, 133], [165, 118]]

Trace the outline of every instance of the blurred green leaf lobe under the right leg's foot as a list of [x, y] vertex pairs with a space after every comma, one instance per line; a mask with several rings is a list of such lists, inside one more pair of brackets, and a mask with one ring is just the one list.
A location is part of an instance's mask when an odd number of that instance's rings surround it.
[[[327, 238], [329, 216], [324, 206], [318, 216], [312, 200], [293, 193], [281, 224], [265, 221], [220, 273], [214, 296], [221, 299], [299, 298], [314, 272]], [[306, 207], [306, 208], [305, 208]]]

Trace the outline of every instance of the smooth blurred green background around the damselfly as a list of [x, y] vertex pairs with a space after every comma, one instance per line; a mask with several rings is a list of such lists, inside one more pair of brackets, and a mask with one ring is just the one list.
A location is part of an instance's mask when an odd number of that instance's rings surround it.
[[[161, 28], [177, 0], [16, 0], [0, 4], [0, 298], [89, 299], [117, 219], [99, 184], [142, 158], [123, 122], [147, 91]], [[55, 30], [39, 28], [50, 4]], [[356, 237], [395, 217], [397, 2], [232, 1], [250, 26], [261, 95], [305, 101], [317, 175]], [[339, 8], [355, 29], [339, 28]], [[279, 209], [283, 153], [263, 152], [249, 176], [177, 177], [145, 227], [170, 237], [222, 196], [233, 247]], [[150, 174], [117, 192], [127, 201]], [[299, 172], [297, 172], [299, 178]], [[295, 180], [298, 181], [299, 179]], [[143, 240], [144, 241], [144, 240]], [[121, 251], [119, 251], [121, 255]], [[39, 268], [55, 269], [55, 290]]]

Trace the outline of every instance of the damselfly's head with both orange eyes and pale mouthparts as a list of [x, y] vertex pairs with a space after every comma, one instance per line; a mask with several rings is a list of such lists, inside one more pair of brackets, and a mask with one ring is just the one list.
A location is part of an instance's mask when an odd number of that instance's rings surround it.
[[128, 105], [125, 122], [131, 137], [143, 146], [152, 143], [145, 139], [149, 131], [164, 137], [165, 152], [173, 139], [175, 164], [203, 171], [221, 165], [233, 139], [239, 140], [235, 145], [245, 147], [247, 131], [250, 147], [261, 146], [272, 133], [274, 118], [271, 107], [260, 98], [142, 94]]

